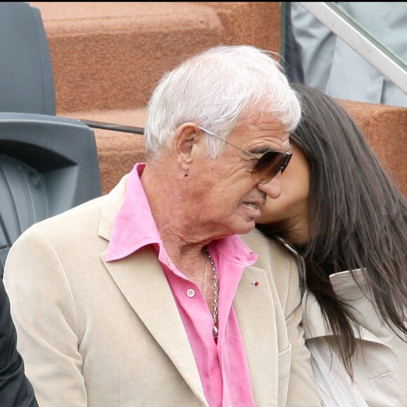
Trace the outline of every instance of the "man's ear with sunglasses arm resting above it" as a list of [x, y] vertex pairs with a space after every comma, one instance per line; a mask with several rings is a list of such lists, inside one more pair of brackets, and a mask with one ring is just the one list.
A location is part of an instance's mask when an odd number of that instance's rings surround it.
[[192, 164], [194, 145], [199, 138], [199, 128], [194, 123], [185, 123], [178, 127], [173, 138], [178, 165], [182, 171], [188, 171]]

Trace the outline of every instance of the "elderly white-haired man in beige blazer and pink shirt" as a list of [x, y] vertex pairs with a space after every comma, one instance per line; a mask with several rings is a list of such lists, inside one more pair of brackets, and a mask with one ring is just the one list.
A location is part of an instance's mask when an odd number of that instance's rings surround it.
[[319, 406], [295, 261], [239, 237], [299, 119], [267, 52], [194, 55], [152, 95], [146, 163], [20, 236], [5, 281], [41, 407]]

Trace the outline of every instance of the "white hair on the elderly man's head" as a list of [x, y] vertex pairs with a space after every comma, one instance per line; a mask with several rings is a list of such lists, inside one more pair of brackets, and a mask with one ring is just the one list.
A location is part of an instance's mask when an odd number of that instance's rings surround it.
[[[159, 154], [187, 122], [227, 138], [239, 115], [253, 105], [259, 112], [274, 113], [287, 132], [300, 121], [300, 102], [272, 52], [241, 45], [198, 53], [156, 86], [147, 107], [147, 155]], [[220, 154], [225, 144], [216, 138], [207, 143], [211, 156]]]

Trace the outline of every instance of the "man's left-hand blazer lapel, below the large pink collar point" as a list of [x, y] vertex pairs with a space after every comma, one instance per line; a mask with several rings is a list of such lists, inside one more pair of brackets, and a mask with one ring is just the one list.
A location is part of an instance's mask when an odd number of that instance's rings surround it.
[[148, 246], [123, 260], [105, 262], [109, 274], [194, 394], [205, 402], [187, 333], [156, 253]]

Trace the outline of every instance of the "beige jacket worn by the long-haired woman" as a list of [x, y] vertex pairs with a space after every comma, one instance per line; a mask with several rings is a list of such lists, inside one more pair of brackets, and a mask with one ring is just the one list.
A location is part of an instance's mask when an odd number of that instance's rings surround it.
[[[365, 272], [357, 270], [356, 278], [366, 292]], [[355, 338], [358, 339], [356, 354], [352, 359], [356, 389], [369, 407], [407, 407], [407, 342], [382, 323], [350, 272], [331, 274], [330, 279], [333, 291], [349, 306], [349, 312], [358, 324], [353, 327]], [[335, 337], [323, 322], [316, 298], [307, 292], [303, 303], [307, 341], [317, 339], [323, 341], [319, 342], [320, 345], [331, 345], [334, 357], [340, 360]]]

